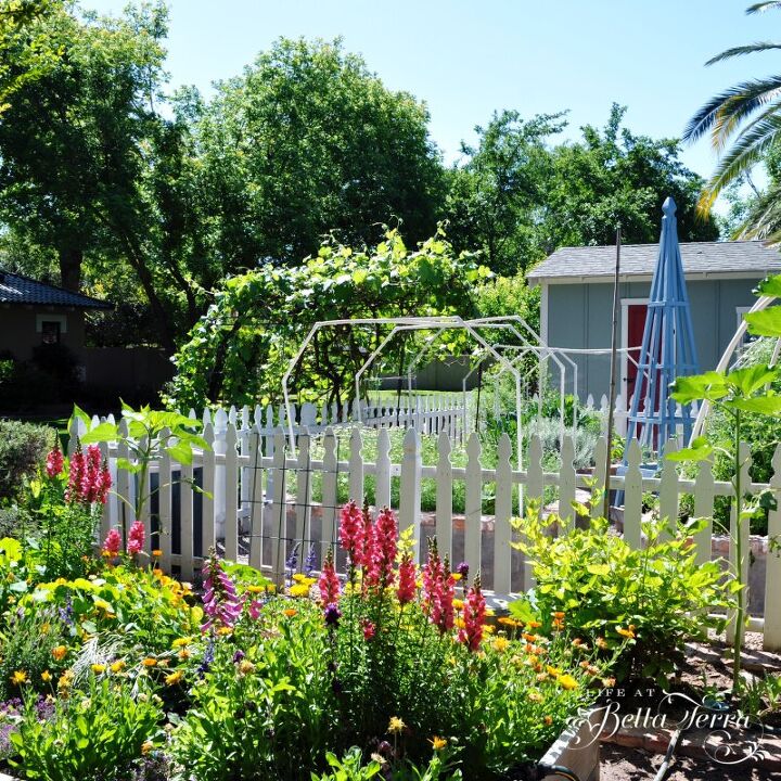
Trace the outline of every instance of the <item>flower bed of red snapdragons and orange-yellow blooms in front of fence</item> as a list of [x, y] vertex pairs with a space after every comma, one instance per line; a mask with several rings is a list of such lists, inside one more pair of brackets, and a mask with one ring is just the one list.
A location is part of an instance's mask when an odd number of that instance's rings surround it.
[[[66, 465], [54, 452], [41, 511], [92, 528], [107, 481], [91, 449]], [[389, 510], [348, 503], [346, 576], [333, 552], [317, 576], [313, 551], [297, 571], [296, 550], [283, 590], [213, 554], [195, 591], [141, 553], [143, 535], [112, 529], [100, 556], [60, 526], [48, 543], [0, 541], [0, 768], [51, 781], [504, 779], [612, 683], [619, 646], [571, 633], [559, 611], [495, 619], [479, 576], [436, 540], [419, 567]]]

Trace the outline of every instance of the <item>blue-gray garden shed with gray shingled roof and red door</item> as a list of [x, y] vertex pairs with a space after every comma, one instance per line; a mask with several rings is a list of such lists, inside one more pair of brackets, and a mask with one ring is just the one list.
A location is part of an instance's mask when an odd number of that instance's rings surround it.
[[[700, 370], [706, 371], [716, 367], [743, 313], [756, 302], [756, 284], [781, 271], [781, 255], [758, 241], [683, 242], [680, 253]], [[636, 357], [657, 257], [657, 244], [622, 247], [618, 344]], [[541, 289], [540, 335], [547, 344], [577, 350], [610, 347], [615, 260], [615, 246], [562, 247], [527, 274], [529, 284]], [[609, 355], [572, 358], [578, 362], [580, 398], [606, 394]], [[636, 370], [626, 353], [619, 369], [617, 389], [627, 400]]]

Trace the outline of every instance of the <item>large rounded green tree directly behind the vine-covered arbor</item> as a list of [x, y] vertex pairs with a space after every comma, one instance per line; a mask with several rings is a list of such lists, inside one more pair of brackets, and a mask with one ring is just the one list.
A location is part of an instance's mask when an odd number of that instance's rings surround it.
[[377, 223], [400, 222], [410, 241], [435, 230], [443, 172], [425, 105], [340, 40], [280, 39], [213, 101], [191, 92], [179, 106], [225, 270], [298, 264], [329, 232], [361, 245]]

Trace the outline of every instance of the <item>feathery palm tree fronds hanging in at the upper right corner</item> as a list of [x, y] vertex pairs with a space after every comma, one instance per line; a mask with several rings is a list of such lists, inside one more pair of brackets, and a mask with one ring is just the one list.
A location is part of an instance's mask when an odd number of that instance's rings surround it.
[[[781, 9], [779, 2], [758, 2], [750, 5], [746, 13], [757, 14], [778, 9]], [[732, 57], [777, 49], [781, 49], [781, 42], [757, 41], [727, 49], [705, 64], [713, 65]], [[726, 187], [750, 172], [781, 139], [781, 112], [777, 99], [779, 89], [781, 75], [741, 81], [710, 98], [689, 120], [683, 131], [686, 141], [693, 142], [709, 133], [714, 149], [726, 150], [700, 199], [700, 212], [703, 215], [709, 213]], [[760, 228], [756, 220], [766, 212], [767, 205], [750, 217], [746, 223], [748, 229]], [[763, 228], [768, 230], [767, 222]]]

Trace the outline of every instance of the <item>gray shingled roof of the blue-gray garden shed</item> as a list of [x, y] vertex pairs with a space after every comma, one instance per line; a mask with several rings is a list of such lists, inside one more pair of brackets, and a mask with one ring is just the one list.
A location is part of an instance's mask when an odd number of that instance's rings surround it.
[[[781, 254], [759, 241], [682, 242], [680, 244], [683, 272], [705, 276], [743, 276], [781, 271]], [[651, 278], [656, 267], [658, 244], [622, 245], [620, 276]], [[613, 277], [615, 246], [562, 247], [529, 271], [527, 279], [561, 280], [567, 278]]]

